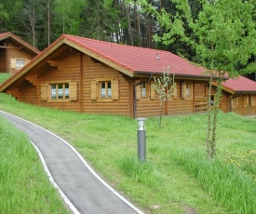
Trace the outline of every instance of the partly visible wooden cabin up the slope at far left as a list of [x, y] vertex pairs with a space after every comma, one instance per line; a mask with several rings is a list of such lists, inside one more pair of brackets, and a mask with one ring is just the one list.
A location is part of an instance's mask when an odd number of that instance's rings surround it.
[[40, 51], [13, 33], [0, 33], [0, 73], [17, 73]]

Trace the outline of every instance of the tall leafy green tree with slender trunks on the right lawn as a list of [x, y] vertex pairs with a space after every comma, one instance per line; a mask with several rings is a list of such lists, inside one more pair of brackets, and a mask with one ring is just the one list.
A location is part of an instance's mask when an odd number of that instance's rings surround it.
[[[163, 36], [155, 39], [168, 45], [179, 38], [195, 50], [196, 62], [209, 73], [209, 121], [207, 151], [210, 158], [215, 156], [217, 115], [222, 97], [222, 81], [255, 71], [255, 63], [249, 62], [256, 55], [256, 30], [254, 16], [255, 1], [201, 0], [202, 10], [193, 16], [191, 1], [171, 0], [178, 12], [161, 13], [142, 0], [142, 5], [154, 13], [165, 29]], [[187, 34], [189, 28], [191, 34]], [[210, 108], [211, 87], [217, 81], [213, 112]], [[212, 118], [213, 114], [213, 119]]]

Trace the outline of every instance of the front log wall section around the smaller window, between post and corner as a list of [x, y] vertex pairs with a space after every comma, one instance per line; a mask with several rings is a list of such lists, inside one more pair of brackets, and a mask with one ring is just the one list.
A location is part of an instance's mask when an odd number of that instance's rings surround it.
[[[115, 69], [102, 64], [100, 61], [93, 60], [84, 55], [84, 101], [82, 103], [84, 112], [96, 114], [122, 114], [132, 116], [132, 79], [125, 77]], [[119, 99], [118, 100], [91, 100], [91, 81], [105, 79], [111, 81], [118, 80]]]

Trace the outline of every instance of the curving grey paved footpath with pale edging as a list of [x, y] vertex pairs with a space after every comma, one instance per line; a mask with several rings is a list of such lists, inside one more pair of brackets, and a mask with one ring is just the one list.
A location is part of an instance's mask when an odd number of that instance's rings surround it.
[[2, 111], [0, 116], [7, 118], [32, 140], [45, 160], [53, 183], [57, 184], [74, 213], [142, 213], [102, 181], [68, 142], [20, 117]]

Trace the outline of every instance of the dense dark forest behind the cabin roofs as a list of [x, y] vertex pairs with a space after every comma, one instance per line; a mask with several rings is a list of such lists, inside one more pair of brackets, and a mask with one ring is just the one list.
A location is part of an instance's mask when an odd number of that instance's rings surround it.
[[[193, 57], [188, 47], [177, 40], [163, 46], [153, 36], [163, 29], [138, 0], [0, 0], [0, 32], [11, 32], [37, 47], [45, 49], [62, 33], [111, 41], [137, 47], [152, 47]], [[149, 0], [159, 12], [177, 9], [169, 0]], [[199, 0], [189, 0], [194, 15]]]

